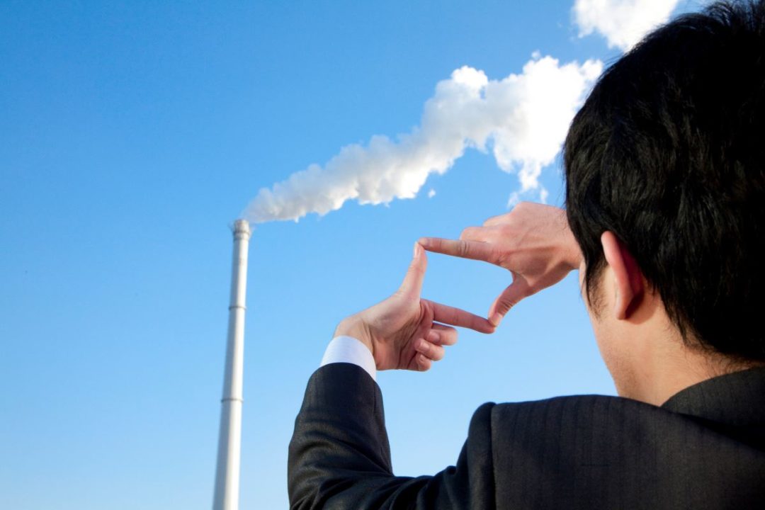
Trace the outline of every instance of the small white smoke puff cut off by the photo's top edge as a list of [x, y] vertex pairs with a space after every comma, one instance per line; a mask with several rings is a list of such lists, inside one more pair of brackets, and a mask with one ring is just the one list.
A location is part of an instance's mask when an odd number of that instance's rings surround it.
[[627, 51], [666, 23], [679, 0], [576, 0], [571, 14], [579, 37], [599, 32], [608, 47]]

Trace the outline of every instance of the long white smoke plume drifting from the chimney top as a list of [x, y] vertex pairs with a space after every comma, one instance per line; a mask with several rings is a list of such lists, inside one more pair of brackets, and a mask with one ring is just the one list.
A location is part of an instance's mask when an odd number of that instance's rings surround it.
[[448, 171], [469, 147], [490, 148], [500, 168], [518, 174], [520, 193], [537, 190], [542, 167], [555, 160], [602, 68], [599, 60], [561, 65], [535, 55], [522, 73], [489, 80], [481, 70], [461, 67], [438, 83], [412, 132], [347, 145], [324, 167], [311, 164], [262, 188], [243, 215], [254, 223], [298, 220], [340, 209], [347, 200], [413, 198], [428, 175]]

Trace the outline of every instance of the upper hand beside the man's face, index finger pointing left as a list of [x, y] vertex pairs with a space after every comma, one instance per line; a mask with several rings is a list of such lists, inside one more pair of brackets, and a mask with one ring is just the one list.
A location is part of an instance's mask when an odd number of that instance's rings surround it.
[[419, 243], [430, 252], [486, 261], [513, 274], [513, 283], [489, 309], [494, 326], [524, 297], [558, 283], [582, 262], [565, 211], [539, 203], [519, 203], [483, 226], [464, 229], [460, 239], [422, 238]]

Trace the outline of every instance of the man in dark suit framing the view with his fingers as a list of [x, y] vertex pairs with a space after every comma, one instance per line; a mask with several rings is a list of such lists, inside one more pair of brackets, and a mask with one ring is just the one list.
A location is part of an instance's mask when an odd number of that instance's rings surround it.
[[[765, 508], [765, 0], [610, 67], [565, 173], [565, 213], [421, 239], [399, 291], [340, 323], [295, 423], [292, 508]], [[512, 271], [488, 320], [420, 298], [423, 247]], [[491, 333], [574, 269], [620, 397], [483, 404], [456, 466], [394, 476], [376, 370], [427, 370], [452, 326]]]

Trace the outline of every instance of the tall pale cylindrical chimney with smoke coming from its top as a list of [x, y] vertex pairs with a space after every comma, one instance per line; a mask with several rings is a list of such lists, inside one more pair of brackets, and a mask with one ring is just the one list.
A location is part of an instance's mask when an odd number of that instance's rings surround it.
[[242, 375], [244, 361], [244, 312], [247, 290], [247, 249], [250, 236], [246, 219], [233, 226], [234, 253], [231, 268], [229, 333], [226, 372], [220, 409], [218, 463], [215, 472], [213, 510], [239, 508], [239, 455], [242, 444]]

